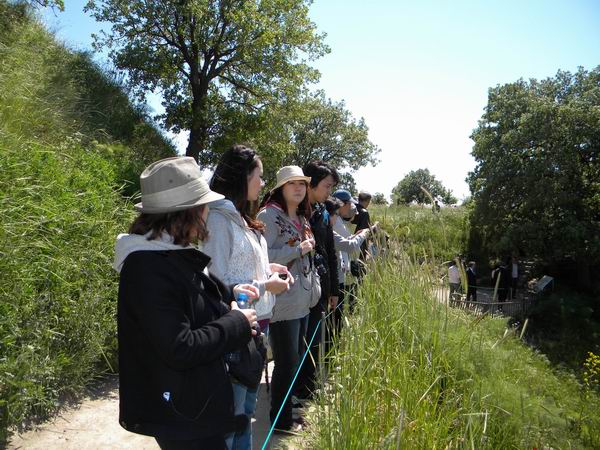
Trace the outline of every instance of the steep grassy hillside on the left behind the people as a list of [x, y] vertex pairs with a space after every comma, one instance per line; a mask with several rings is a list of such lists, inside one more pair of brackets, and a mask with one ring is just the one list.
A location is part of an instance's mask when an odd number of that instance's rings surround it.
[[0, 447], [115, 369], [115, 236], [172, 144], [114, 77], [0, 1]]

